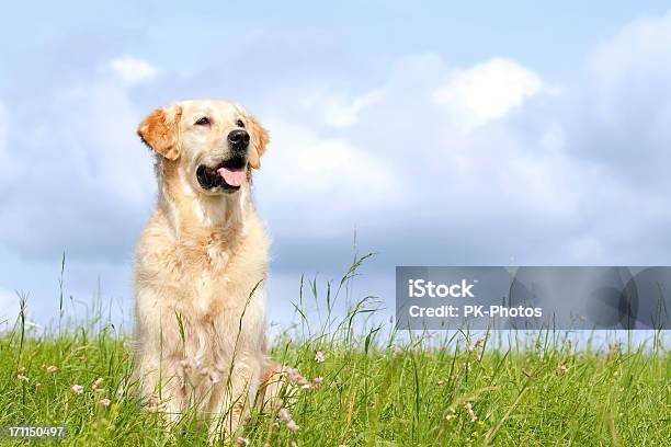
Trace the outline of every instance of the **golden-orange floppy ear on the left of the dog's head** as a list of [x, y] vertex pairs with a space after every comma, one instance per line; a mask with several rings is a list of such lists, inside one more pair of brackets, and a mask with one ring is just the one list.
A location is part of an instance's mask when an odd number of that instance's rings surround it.
[[137, 135], [145, 145], [168, 160], [180, 158], [180, 118], [182, 106], [179, 104], [160, 107], [151, 112], [137, 128]]

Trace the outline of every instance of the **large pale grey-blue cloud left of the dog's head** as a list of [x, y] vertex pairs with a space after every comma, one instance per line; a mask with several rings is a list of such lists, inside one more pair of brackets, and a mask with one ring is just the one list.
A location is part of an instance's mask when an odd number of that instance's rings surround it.
[[134, 133], [141, 114], [114, 82], [65, 85], [39, 101], [48, 106], [38, 115], [16, 108], [9, 135], [16, 150], [0, 180], [0, 242], [36, 259], [126, 257], [156, 190]]

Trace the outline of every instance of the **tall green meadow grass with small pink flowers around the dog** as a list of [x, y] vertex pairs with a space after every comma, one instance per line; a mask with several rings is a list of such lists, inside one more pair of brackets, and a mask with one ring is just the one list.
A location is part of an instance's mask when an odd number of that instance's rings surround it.
[[[278, 337], [272, 356], [323, 380], [287, 404], [296, 433], [277, 414], [254, 412], [243, 434], [252, 446], [671, 445], [671, 355], [661, 333], [648, 346], [601, 349], [576, 349], [553, 332], [409, 339], [380, 326], [371, 328], [367, 300], [337, 320], [340, 290], [329, 285], [321, 302], [316, 283], [305, 288], [325, 312], [306, 317], [302, 282], [299, 323]], [[60, 335], [30, 332], [20, 318], [0, 335], [0, 425], [66, 424], [64, 445], [207, 444], [190, 415], [169, 436], [156, 413], [141, 411], [128, 386], [126, 335], [98, 320], [67, 328]], [[104, 394], [92, 392], [99, 377]], [[73, 385], [83, 393], [73, 393]], [[101, 405], [102, 398], [111, 404]]]

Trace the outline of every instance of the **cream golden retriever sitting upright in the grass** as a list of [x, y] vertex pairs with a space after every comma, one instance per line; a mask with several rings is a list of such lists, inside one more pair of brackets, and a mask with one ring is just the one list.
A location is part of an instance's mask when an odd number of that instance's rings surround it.
[[156, 154], [158, 205], [136, 248], [136, 382], [168, 427], [194, 409], [211, 440], [234, 436], [280, 389], [266, 355], [270, 241], [251, 195], [269, 135], [213, 100], [160, 107], [137, 134]]

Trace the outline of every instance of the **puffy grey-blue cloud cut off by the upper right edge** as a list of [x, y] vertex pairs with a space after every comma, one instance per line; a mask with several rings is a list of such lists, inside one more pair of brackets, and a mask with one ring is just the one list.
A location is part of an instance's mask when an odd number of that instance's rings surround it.
[[641, 195], [671, 196], [671, 12], [627, 24], [591, 53], [561, 111], [569, 150]]

